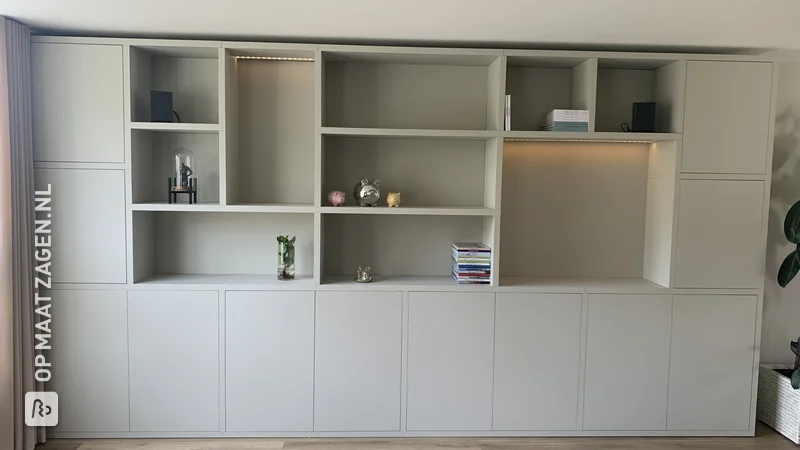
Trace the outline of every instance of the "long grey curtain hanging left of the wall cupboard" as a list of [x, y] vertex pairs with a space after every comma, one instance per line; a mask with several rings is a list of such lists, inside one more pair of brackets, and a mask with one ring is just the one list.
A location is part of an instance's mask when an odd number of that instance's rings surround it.
[[[33, 144], [30, 30], [0, 18], [0, 449], [31, 450], [43, 428], [24, 421], [34, 378]], [[10, 419], [10, 420], [6, 420]], [[10, 424], [10, 425], [9, 425]], [[4, 428], [5, 427], [5, 428]]]

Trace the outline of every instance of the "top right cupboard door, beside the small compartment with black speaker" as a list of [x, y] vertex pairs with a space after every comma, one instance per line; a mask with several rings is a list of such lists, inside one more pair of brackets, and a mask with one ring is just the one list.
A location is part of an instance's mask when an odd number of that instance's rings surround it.
[[689, 62], [682, 172], [765, 173], [772, 66]]

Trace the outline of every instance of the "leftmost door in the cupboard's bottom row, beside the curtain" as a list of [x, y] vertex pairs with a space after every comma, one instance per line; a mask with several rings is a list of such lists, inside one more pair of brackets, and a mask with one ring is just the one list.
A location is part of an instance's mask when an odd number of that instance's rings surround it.
[[125, 291], [52, 290], [47, 295], [54, 324], [47, 389], [58, 392], [60, 408], [55, 431], [128, 431]]

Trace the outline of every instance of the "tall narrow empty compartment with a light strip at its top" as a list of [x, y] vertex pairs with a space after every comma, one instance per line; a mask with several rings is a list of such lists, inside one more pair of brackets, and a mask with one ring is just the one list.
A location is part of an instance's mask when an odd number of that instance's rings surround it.
[[225, 51], [227, 204], [313, 206], [314, 51], [231, 45]]

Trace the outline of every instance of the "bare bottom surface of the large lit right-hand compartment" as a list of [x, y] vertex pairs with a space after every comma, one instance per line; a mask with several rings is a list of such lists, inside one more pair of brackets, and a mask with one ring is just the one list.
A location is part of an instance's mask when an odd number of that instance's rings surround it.
[[643, 278], [501, 277], [499, 289], [575, 290], [587, 292], [664, 292], [669, 288]]

